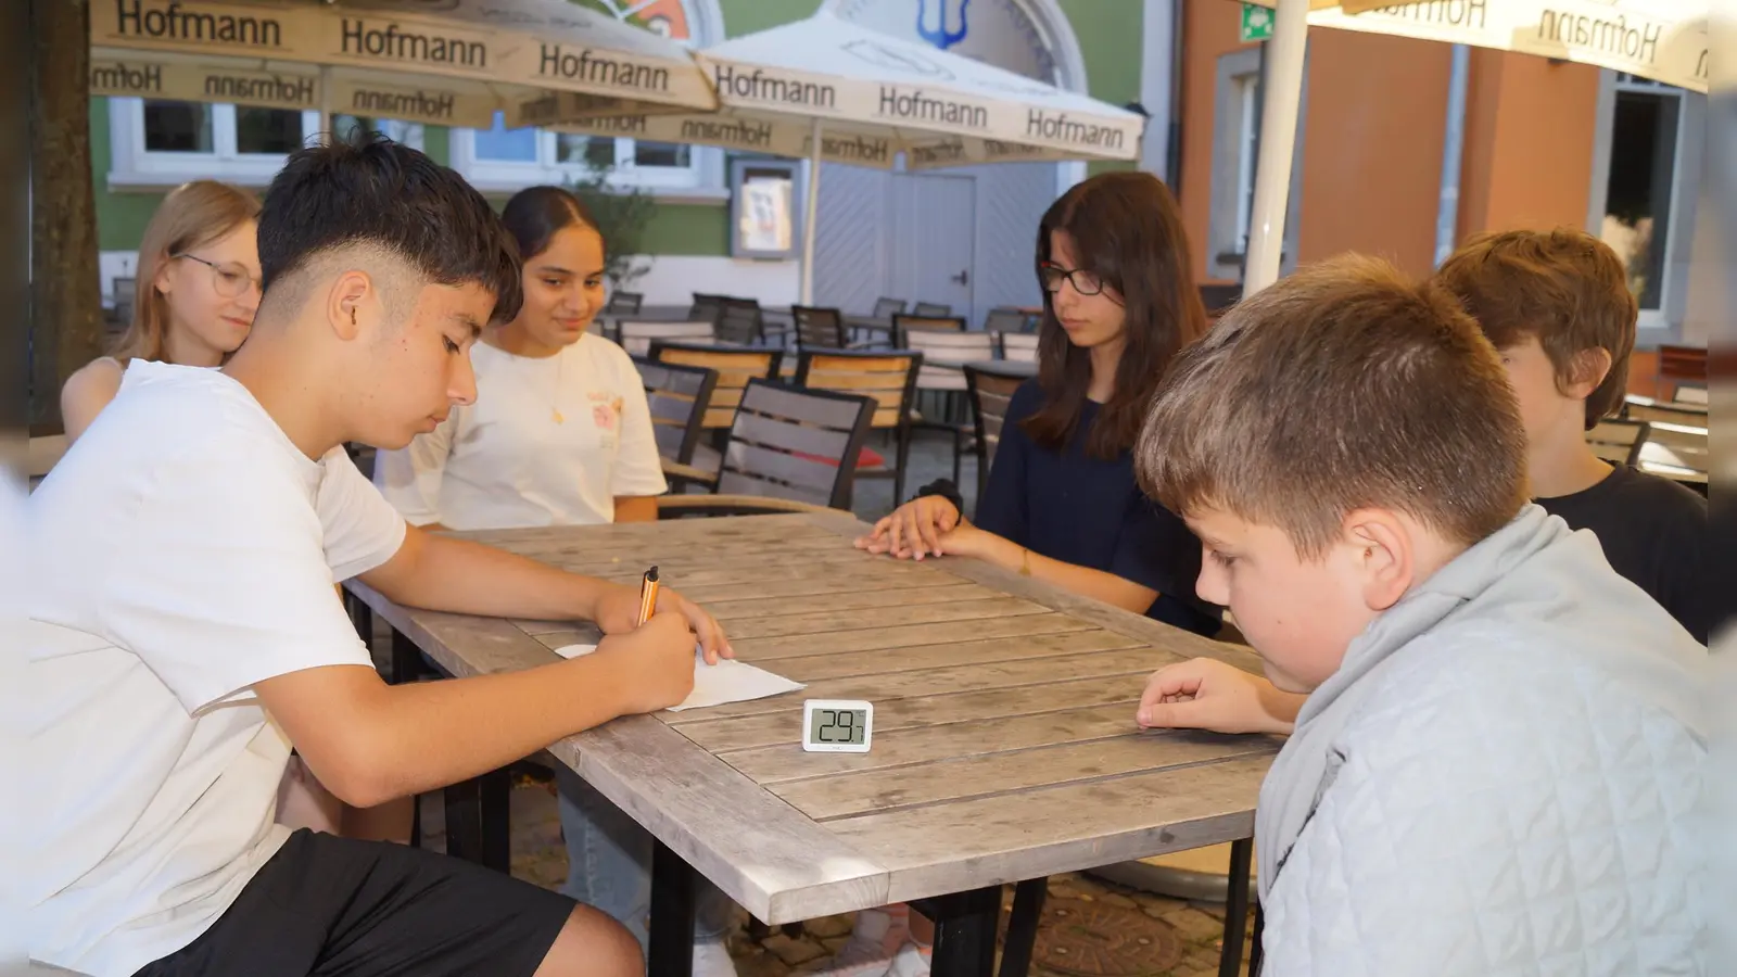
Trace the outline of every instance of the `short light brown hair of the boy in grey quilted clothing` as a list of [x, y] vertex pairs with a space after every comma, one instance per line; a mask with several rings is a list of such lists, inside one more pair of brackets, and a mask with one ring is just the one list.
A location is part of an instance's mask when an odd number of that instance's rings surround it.
[[1471, 316], [1362, 256], [1225, 313], [1178, 356], [1134, 449], [1171, 511], [1277, 527], [1304, 560], [1362, 508], [1471, 546], [1527, 502], [1525, 457], [1520, 405]]

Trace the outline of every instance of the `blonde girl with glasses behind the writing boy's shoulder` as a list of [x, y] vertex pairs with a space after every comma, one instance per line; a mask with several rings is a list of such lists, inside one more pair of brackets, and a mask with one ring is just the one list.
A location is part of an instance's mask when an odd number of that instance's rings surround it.
[[127, 332], [61, 388], [68, 443], [115, 400], [132, 360], [217, 367], [241, 346], [259, 309], [257, 217], [257, 196], [212, 179], [163, 198], [139, 243], [142, 287]]

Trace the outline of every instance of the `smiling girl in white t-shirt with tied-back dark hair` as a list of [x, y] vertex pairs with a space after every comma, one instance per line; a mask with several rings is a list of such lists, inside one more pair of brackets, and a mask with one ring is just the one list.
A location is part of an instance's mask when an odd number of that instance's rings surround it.
[[[519, 191], [502, 219], [525, 261], [525, 304], [472, 346], [476, 402], [408, 447], [379, 452], [375, 485], [424, 528], [655, 520], [667, 485], [639, 370], [587, 332], [604, 302], [603, 236], [558, 186]], [[565, 765], [556, 779], [568, 855], [561, 892], [646, 946], [651, 836]], [[702, 885], [697, 977], [735, 975], [723, 940], [730, 916], [728, 899]]]

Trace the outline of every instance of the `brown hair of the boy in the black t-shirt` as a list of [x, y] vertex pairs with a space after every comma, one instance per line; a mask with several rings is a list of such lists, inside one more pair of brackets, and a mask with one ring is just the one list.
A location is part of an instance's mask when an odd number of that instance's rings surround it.
[[1586, 396], [1586, 429], [1622, 407], [1635, 320], [1622, 259], [1586, 231], [1503, 231], [1468, 242], [1436, 271], [1483, 336], [1506, 349], [1536, 336], [1556, 369], [1556, 389], [1575, 382], [1577, 358], [1610, 353], [1610, 372]]

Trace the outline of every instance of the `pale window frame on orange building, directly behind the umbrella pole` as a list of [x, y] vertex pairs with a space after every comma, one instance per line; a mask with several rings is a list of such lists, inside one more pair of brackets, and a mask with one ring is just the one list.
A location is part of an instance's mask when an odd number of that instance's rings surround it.
[[[1306, 63], [1304, 63], [1306, 64]], [[1218, 57], [1212, 94], [1212, 189], [1207, 210], [1205, 271], [1209, 278], [1242, 280], [1240, 261], [1219, 256], [1247, 256], [1249, 209], [1254, 189], [1256, 99], [1259, 97], [1261, 50], [1245, 47]], [[1303, 71], [1303, 97], [1298, 108], [1296, 148], [1291, 156], [1291, 195], [1285, 209], [1285, 235], [1280, 275], [1296, 269], [1298, 224], [1303, 209], [1303, 134], [1308, 118], [1308, 71]]]

